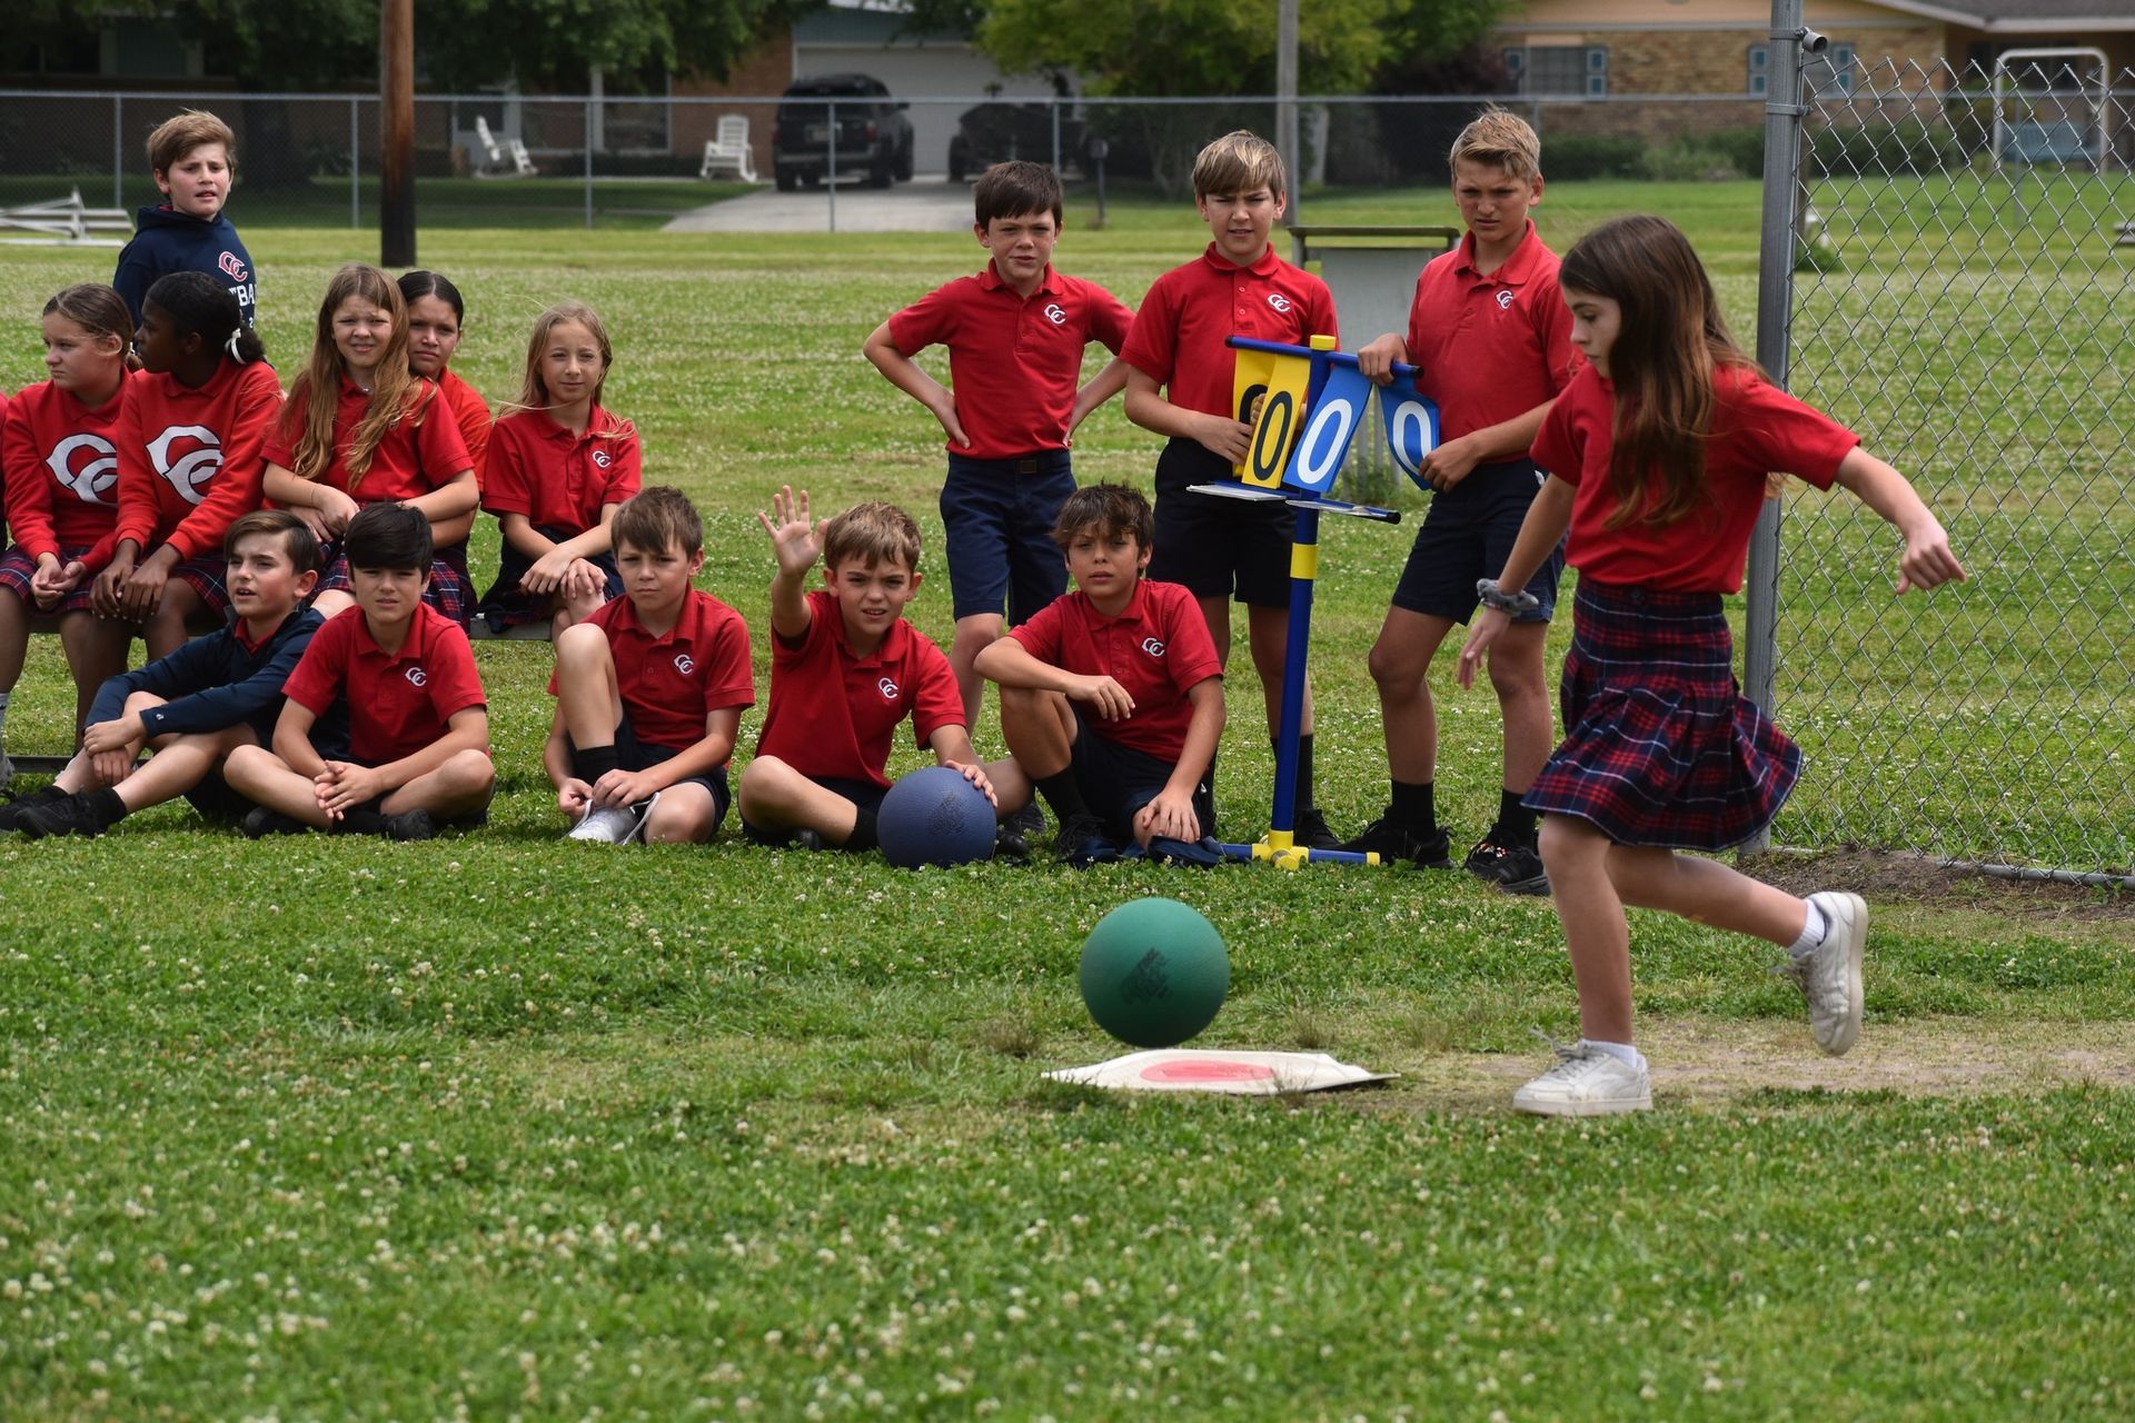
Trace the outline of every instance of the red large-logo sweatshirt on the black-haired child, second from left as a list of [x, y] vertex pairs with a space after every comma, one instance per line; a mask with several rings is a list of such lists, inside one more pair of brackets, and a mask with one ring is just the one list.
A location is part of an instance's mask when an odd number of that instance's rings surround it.
[[280, 416], [282, 382], [265, 361], [224, 358], [199, 390], [135, 371], [117, 538], [143, 555], [169, 544], [179, 559], [220, 557], [222, 535], [260, 506], [263, 450]]

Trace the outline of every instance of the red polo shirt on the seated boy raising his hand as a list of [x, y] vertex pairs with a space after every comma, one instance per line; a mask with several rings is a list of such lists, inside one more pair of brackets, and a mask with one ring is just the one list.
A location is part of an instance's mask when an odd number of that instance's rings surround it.
[[845, 619], [828, 593], [807, 595], [807, 636], [771, 638], [771, 706], [756, 755], [775, 755], [805, 777], [888, 785], [890, 734], [912, 717], [912, 738], [963, 725], [963, 693], [948, 657], [897, 619], [867, 657], [845, 642]]

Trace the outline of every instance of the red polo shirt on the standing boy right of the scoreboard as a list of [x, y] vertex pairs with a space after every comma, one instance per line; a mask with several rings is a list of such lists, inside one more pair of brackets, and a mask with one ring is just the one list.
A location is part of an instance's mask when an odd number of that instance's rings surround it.
[[1533, 220], [1490, 275], [1475, 271], [1475, 235], [1433, 258], [1409, 305], [1416, 388], [1439, 405], [1441, 435], [1458, 439], [1556, 399], [1582, 365], [1556, 254]]

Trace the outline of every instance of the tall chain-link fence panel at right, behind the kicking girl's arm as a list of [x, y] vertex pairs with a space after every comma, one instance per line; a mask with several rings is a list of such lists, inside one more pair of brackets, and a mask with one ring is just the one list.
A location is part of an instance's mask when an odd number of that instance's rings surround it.
[[1815, 772], [1778, 845], [2018, 873], [2135, 862], [2135, 73], [1804, 85], [1791, 388], [1904, 469], [1966, 587], [1892, 599], [1857, 501], [1796, 495], [1778, 542], [1776, 717]]

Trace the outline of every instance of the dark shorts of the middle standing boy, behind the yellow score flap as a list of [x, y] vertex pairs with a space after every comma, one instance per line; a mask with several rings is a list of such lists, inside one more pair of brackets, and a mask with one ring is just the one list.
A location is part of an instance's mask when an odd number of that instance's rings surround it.
[[[1198, 439], [1172, 439], [1157, 457], [1157, 533], [1149, 576], [1183, 582], [1193, 597], [1232, 597], [1255, 608], [1290, 606], [1290, 540], [1298, 512], [1281, 499], [1225, 499], [1191, 484], [1238, 482], [1230, 461]], [[1477, 574], [1480, 576], [1480, 574]]]

